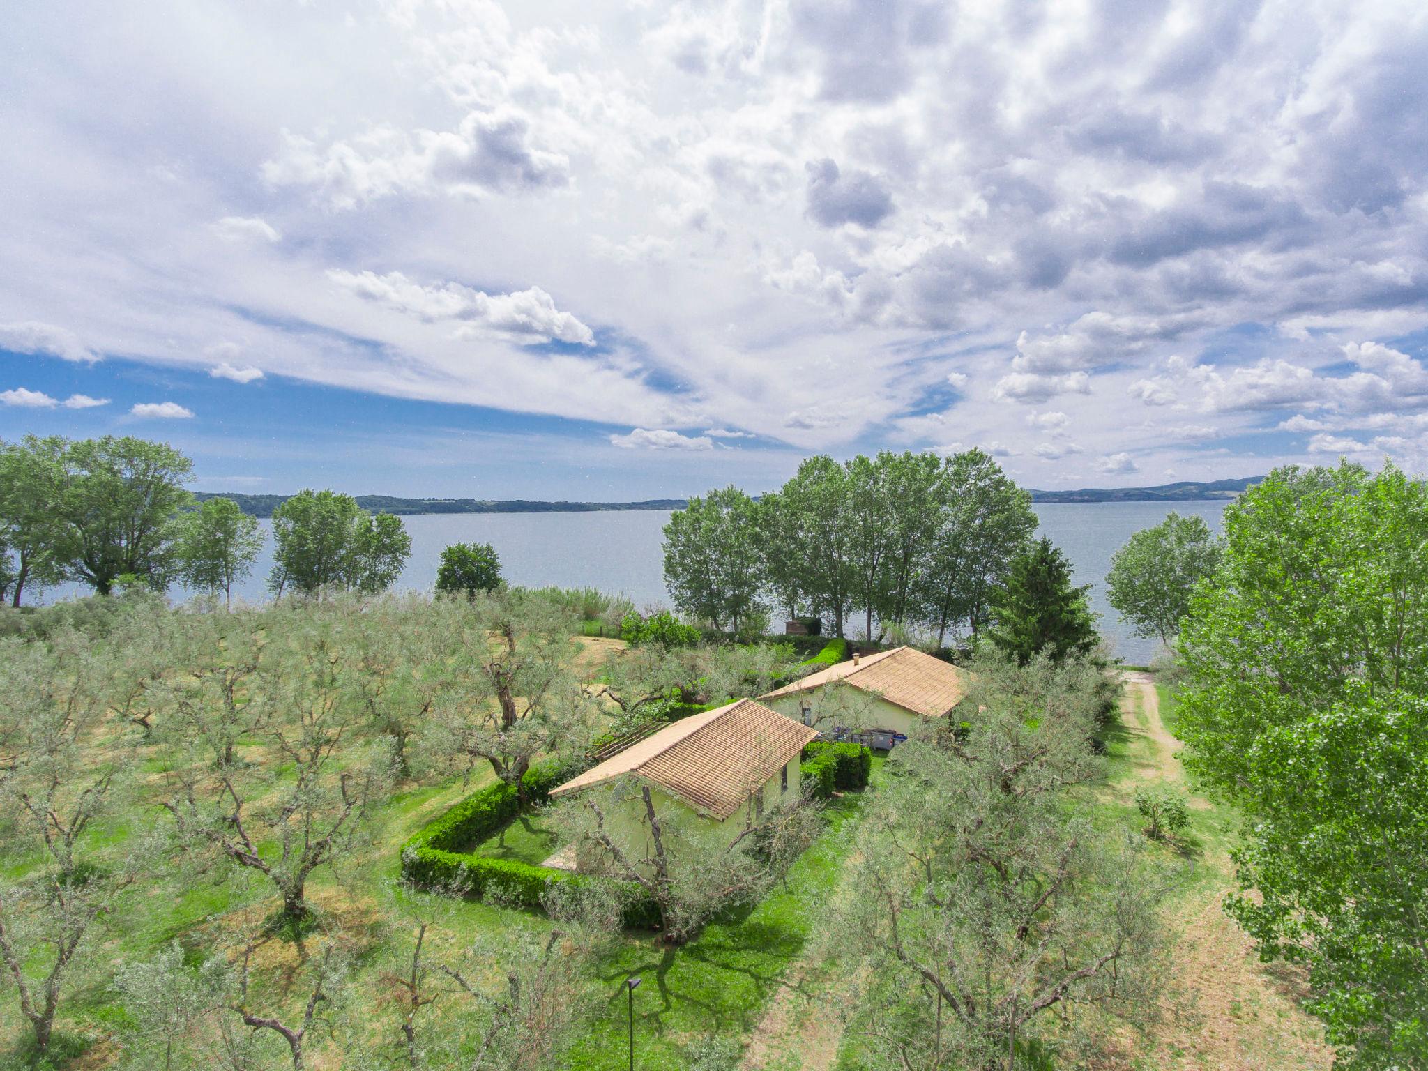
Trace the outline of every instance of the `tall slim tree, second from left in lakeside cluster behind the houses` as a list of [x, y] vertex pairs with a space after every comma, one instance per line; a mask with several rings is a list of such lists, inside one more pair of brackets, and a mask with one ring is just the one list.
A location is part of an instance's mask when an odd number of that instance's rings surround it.
[[834, 635], [843, 635], [858, 580], [850, 553], [853, 511], [847, 470], [827, 454], [808, 457], [778, 497], [781, 508], [788, 511], [783, 553], [803, 577], [804, 601], [833, 621]]

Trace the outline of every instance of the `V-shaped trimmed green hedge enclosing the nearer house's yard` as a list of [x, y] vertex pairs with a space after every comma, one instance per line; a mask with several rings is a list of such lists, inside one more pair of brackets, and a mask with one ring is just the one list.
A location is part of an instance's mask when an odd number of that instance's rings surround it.
[[[544, 763], [531, 767], [521, 781], [531, 800], [544, 803], [550, 790], [570, 775], [568, 767]], [[541, 907], [541, 897], [551, 885], [593, 881], [565, 870], [458, 851], [496, 835], [511, 823], [520, 811], [520, 795], [516, 785], [503, 781], [473, 793], [417, 830], [401, 845], [403, 880], [414, 885], [463, 888], [476, 897], [496, 885], [521, 907], [530, 908]], [[660, 925], [660, 911], [647, 895], [635, 895], [624, 908], [624, 924], [633, 930], [654, 930]]]

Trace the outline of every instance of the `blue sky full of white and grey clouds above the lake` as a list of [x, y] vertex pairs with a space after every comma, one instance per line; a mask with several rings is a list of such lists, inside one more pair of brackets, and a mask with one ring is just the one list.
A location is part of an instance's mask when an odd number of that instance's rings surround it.
[[1428, 468], [1418, 0], [20, 4], [0, 49], [0, 438], [481, 498]]

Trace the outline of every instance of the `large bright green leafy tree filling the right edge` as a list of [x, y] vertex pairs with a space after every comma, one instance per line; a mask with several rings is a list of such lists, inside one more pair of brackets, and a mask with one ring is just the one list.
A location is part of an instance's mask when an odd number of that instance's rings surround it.
[[1187, 765], [1248, 818], [1231, 912], [1352, 1068], [1428, 1064], [1428, 484], [1279, 468], [1181, 624]]

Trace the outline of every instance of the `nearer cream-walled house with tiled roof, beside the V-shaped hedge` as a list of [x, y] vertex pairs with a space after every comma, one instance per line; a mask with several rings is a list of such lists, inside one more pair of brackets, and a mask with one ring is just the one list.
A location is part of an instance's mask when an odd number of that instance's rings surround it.
[[[723, 847], [765, 810], [800, 798], [798, 758], [818, 733], [754, 700], [738, 700], [665, 725], [565, 784], [560, 798], [635, 778], [650, 788], [661, 828]], [[605, 831], [621, 850], [651, 854], [644, 800], [633, 795], [604, 815]], [[577, 860], [581, 870], [593, 868]]]

